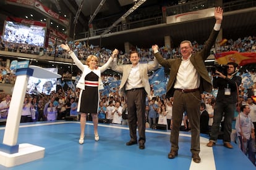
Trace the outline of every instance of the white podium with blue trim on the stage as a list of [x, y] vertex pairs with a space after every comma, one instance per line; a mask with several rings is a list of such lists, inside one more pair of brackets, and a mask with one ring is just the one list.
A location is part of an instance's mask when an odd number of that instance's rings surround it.
[[61, 75], [33, 65], [28, 68], [17, 69], [16, 75], [17, 78], [14, 84], [14, 91], [12, 92], [4, 139], [2, 144], [0, 144], [0, 164], [6, 167], [28, 163], [45, 156], [45, 148], [43, 147], [32, 144], [17, 144], [21, 111], [28, 85], [28, 78], [30, 76], [43, 79], [61, 78]]

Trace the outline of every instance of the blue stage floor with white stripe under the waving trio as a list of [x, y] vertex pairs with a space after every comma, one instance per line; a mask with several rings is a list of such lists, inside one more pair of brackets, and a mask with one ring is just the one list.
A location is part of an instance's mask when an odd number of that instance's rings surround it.
[[[192, 161], [190, 133], [180, 133], [179, 155], [168, 159], [169, 131], [146, 131], [145, 150], [139, 145], [126, 146], [129, 128], [113, 124], [99, 124], [100, 140], [95, 142], [92, 122], [85, 128], [85, 143], [79, 144], [80, 123], [59, 121], [53, 123], [20, 124], [18, 144], [33, 144], [45, 148], [45, 157], [12, 168], [0, 169], [256, 169], [236, 144], [225, 148], [219, 140], [213, 148], [207, 147], [207, 136], [200, 139], [202, 162]], [[0, 140], [4, 127], [0, 127]]]

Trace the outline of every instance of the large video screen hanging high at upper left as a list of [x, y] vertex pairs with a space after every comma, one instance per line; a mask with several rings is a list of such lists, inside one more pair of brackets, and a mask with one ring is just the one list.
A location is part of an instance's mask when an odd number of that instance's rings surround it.
[[4, 28], [3, 36], [7, 42], [31, 44], [39, 47], [43, 47], [45, 44], [46, 27], [44, 26], [6, 21]]

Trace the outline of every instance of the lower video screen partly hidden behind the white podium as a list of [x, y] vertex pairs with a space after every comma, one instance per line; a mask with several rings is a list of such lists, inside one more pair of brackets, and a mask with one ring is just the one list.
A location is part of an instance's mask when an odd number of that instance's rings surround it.
[[[58, 73], [58, 68], [45, 68], [53, 73]], [[51, 94], [52, 91], [56, 91], [57, 79], [39, 79], [30, 76], [28, 79], [27, 93], [28, 94]]]

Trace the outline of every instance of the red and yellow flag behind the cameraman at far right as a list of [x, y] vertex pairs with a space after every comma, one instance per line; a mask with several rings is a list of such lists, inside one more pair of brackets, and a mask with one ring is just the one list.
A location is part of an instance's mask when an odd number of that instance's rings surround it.
[[249, 63], [256, 63], [256, 52], [221, 52], [215, 54], [215, 59], [218, 64], [227, 64], [228, 62], [235, 62], [240, 66], [247, 65]]

